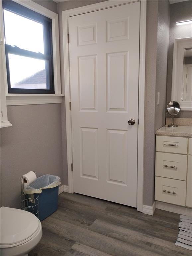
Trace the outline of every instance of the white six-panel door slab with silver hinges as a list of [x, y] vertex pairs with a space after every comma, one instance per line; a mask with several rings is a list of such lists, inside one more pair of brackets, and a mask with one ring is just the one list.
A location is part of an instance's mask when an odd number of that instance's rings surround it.
[[68, 26], [74, 192], [136, 207], [140, 3]]

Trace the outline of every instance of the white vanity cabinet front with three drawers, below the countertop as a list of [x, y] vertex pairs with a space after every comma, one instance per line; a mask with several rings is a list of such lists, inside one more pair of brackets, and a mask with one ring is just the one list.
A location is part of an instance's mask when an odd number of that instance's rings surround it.
[[156, 135], [155, 200], [192, 207], [192, 139]]

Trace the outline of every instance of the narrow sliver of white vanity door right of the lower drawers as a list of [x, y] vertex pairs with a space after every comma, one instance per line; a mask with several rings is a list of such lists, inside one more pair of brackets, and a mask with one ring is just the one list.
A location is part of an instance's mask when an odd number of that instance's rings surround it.
[[192, 207], [192, 156], [188, 156], [186, 206]]

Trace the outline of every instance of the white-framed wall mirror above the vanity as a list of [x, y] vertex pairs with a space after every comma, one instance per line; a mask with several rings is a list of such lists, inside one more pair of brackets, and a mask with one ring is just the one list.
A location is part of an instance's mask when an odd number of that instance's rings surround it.
[[171, 100], [192, 110], [192, 37], [174, 40]]

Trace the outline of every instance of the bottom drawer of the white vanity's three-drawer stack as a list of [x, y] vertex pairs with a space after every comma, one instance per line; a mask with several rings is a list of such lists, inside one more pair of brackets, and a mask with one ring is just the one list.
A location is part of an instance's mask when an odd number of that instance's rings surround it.
[[186, 181], [155, 177], [155, 200], [185, 206]]

